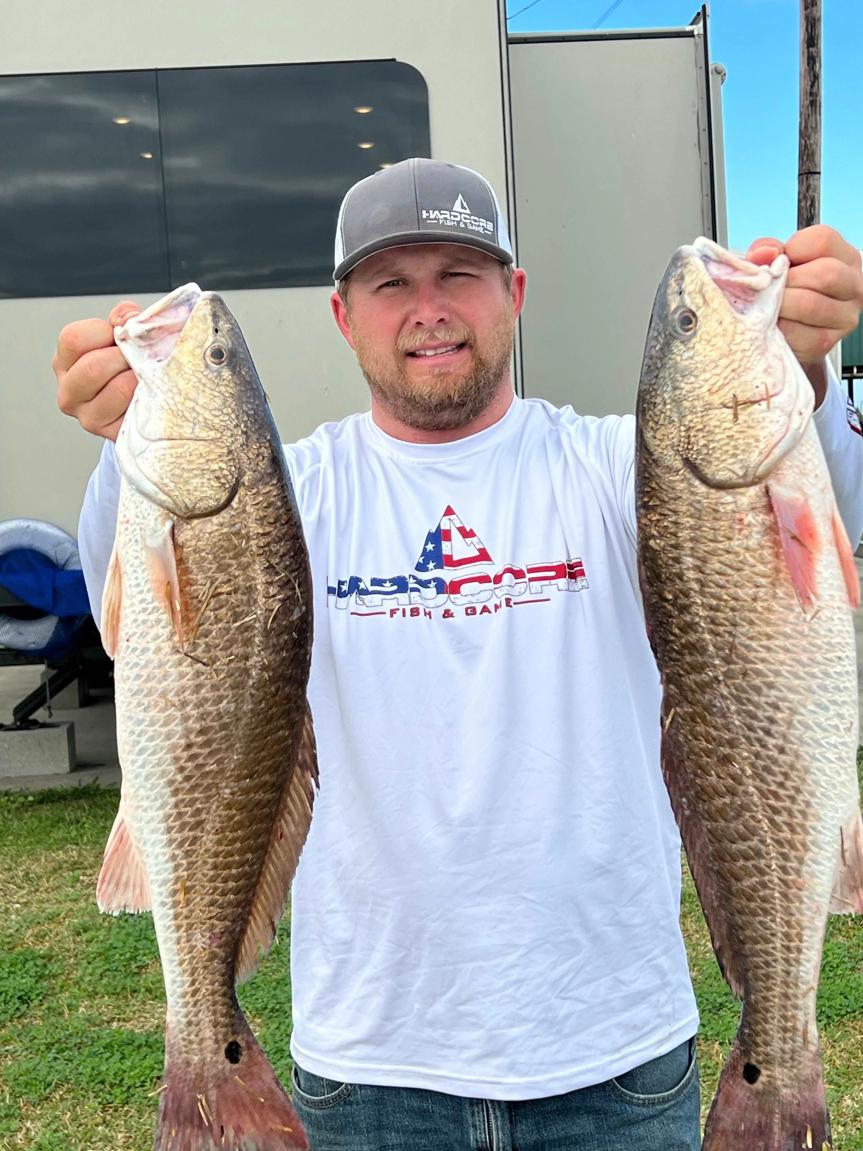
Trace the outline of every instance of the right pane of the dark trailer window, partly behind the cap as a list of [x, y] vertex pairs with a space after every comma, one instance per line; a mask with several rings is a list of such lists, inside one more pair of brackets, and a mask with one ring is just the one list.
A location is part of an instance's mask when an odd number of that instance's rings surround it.
[[351, 184], [429, 155], [425, 82], [396, 61], [160, 71], [159, 97], [174, 284], [331, 283]]

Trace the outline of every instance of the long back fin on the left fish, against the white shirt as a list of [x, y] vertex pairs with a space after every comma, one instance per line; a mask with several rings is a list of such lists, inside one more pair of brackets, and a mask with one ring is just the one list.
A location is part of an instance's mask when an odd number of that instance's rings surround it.
[[318, 782], [318, 753], [312, 727], [312, 711], [306, 704], [306, 721], [300, 738], [297, 764], [282, 793], [282, 801], [273, 828], [258, 890], [254, 893], [249, 922], [237, 955], [236, 981], [243, 983], [258, 969], [258, 947], [264, 954], [276, 935], [276, 927], [284, 914], [293, 872], [312, 823], [312, 803]]

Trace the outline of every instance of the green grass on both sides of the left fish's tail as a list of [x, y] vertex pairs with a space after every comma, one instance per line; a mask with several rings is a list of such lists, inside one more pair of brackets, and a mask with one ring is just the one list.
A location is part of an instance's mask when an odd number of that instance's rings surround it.
[[[100, 915], [116, 791], [0, 796], [0, 1149], [150, 1151], [165, 992], [151, 915]], [[290, 1078], [288, 922], [239, 989]]]

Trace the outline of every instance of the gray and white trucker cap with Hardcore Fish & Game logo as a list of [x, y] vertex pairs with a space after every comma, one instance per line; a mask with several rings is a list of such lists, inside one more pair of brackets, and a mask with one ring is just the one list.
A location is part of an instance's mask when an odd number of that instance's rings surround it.
[[342, 200], [333, 279], [387, 247], [441, 243], [479, 247], [512, 264], [501, 205], [483, 176], [440, 160], [402, 160], [360, 180]]

